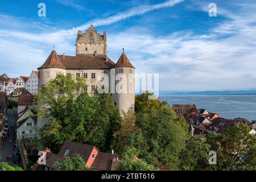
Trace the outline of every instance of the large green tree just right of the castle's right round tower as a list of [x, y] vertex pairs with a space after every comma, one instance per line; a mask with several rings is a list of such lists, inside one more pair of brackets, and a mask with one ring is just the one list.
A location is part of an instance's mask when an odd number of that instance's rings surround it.
[[135, 97], [137, 125], [141, 128], [135, 147], [147, 163], [156, 167], [170, 164], [171, 169], [178, 169], [179, 154], [188, 139], [188, 125], [166, 101], [148, 99], [152, 96], [147, 92]]

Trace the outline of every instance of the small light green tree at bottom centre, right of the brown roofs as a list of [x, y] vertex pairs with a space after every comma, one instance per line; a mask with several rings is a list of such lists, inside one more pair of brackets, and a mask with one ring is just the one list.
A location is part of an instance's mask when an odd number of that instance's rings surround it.
[[143, 159], [139, 159], [136, 148], [129, 148], [121, 162], [115, 168], [116, 171], [154, 171], [154, 166], [147, 164]]

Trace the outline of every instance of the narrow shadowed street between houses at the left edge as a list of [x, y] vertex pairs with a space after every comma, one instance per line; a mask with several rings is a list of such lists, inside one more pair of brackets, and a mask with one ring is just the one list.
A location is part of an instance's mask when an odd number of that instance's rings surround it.
[[[6, 142], [5, 144], [3, 144], [2, 149], [0, 149], [0, 162], [8, 162], [11, 166], [16, 165], [16, 166], [22, 167], [21, 159], [19, 163], [15, 163], [15, 164], [13, 163], [13, 159], [11, 161], [10, 160], [7, 161], [7, 155], [13, 156], [14, 152], [18, 152], [18, 149], [14, 148], [14, 145], [13, 145], [13, 142], [16, 139], [16, 133], [14, 129], [11, 128], [12, 125], [14, 125], [15, 127], [17, 126], [14, 111], [16, 113], [16, 110], [9, 109], [9, 113], [8, 113], [9, 121], [7, 123], [8, 123], [10, 134], [9, 134], [9, 137], [6, 138]], [[10, 140], [11, 140], [11, 143], [10, 143]]]

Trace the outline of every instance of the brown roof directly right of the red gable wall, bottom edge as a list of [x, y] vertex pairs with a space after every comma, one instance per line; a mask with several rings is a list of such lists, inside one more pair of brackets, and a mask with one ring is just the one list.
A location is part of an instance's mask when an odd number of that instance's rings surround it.
[[117, 154], [99, 152], [91, 167], [97, 170], [111, 171], [113, 170], [113, 162], [115, 160], [118, 160]]

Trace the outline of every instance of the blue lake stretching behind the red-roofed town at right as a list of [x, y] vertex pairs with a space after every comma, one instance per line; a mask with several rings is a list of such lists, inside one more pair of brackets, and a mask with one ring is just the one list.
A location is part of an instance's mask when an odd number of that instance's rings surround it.
[[196, 104], [197, 108], [219, 113], [226, 119], [256, 119], [256, 96], [159, 96], [160, 100], [172, 104]]

